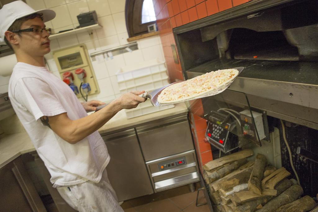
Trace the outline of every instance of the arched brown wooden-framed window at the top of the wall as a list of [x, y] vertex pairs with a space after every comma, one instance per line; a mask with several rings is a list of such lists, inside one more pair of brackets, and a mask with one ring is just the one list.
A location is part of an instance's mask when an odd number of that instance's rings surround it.
[[148, 25], [156, 23], [152, 0], [126, 0], [125, 16], [129, 38], [148, 33]]

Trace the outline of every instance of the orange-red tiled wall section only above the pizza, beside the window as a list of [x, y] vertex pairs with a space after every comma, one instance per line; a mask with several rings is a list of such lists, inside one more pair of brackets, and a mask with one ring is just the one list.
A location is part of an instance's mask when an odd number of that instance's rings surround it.
[[171, 44], [175, 45], [172, 29], [227, 10], [251, 0], [152, 0], [160, 31], [170, 82], [182, 80], [180, 64], [175, 64]]

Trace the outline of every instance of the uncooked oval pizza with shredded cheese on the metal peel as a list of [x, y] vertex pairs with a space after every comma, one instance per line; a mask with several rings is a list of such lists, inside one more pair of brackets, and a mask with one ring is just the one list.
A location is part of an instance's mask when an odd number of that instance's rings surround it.
[[224, 69], [170, 85], [159, 94], [158, 102], [173, 103], [200, 96], [231, 82], [238, 74], [236, 69]]

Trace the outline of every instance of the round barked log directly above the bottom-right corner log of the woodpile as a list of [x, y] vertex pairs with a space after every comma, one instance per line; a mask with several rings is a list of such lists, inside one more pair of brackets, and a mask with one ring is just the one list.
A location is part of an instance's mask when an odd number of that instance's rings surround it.
[[280, 206], [295, 201], [303, 193], [304, 191], [300, 185], [292, 185], [279, 196], [267, 202], [267, 204], [264, 205], [262, 209], [257, 210], [257, 212], [273, 212]]

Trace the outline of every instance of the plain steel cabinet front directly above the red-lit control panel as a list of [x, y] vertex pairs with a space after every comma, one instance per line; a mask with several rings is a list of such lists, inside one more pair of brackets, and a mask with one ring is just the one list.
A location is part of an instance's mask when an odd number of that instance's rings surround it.
[[146, 161], [194, 149], [187, 115], [137, 127]]

